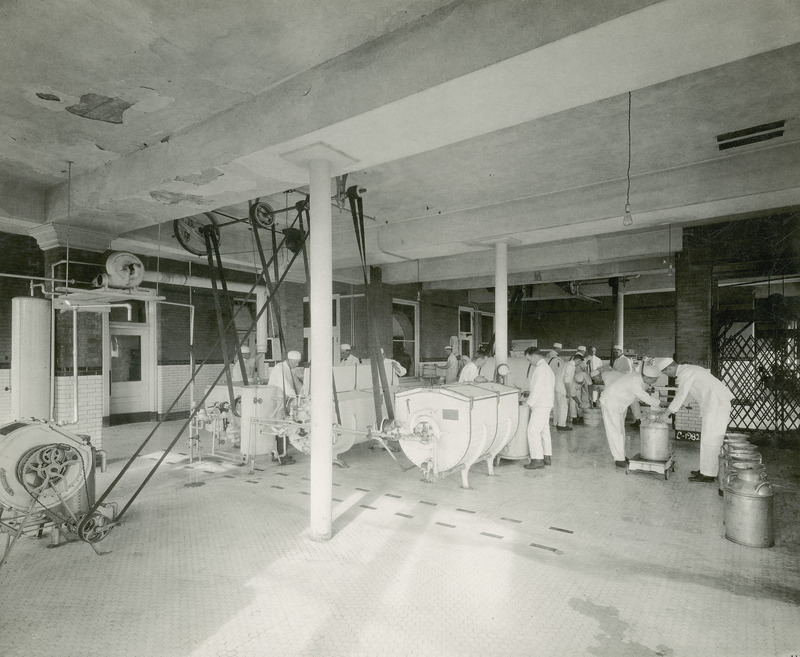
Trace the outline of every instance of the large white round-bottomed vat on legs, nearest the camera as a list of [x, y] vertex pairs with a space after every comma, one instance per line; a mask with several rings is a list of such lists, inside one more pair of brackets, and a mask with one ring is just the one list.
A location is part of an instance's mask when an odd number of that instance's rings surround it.
[[519, 421], [519, 391], [499, 383], [401, 390], [395, 406], [406, 456], [429, 481], [461, 470], [464, 488], [469, 469], [482, 459], [494, 474], [494, 458]]

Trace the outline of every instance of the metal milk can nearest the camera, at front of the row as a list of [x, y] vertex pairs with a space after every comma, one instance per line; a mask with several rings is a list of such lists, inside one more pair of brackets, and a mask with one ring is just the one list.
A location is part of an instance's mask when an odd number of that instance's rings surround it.
[[750, 547], [772, 547], [775, 544], [772, 484], [756, 468], [732, 468], [727, 479], [725, 538]]

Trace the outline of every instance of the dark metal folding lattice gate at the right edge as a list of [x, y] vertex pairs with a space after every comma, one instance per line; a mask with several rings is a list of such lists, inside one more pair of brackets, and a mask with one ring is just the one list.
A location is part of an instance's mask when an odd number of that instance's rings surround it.
[[800, 428], [797, 338], [796, 329], [760, 338], [744, 331], [719, 337], [716, 375], [734, 394], [731, 429]]

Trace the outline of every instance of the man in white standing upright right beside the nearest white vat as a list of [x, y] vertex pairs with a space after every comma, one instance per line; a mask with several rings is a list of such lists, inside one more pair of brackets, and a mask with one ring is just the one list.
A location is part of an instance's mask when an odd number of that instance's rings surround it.
[[527, 470], [538, 470], [552, 465], [553, 447], [550, 439], [550, 410], [555, 399], [555, 375], [547, 366], [544, 352], [536, 347], [525, 350], [525, 358], [533, 365], [528, 383], [528, 406], [531, 417], [528, 421], [528, 450], [531, 462]]

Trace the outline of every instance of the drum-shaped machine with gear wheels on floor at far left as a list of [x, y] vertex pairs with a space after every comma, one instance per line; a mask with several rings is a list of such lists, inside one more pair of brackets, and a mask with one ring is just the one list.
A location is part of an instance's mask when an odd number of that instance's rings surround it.
[[105, 538], [116, 505], [92, 510], [97, 455], [89, 436], [48, 422], [0, 426], [0, 532], [7, 535], [0, 567], [23, 534], [49, 531], [52, 545], [74, 537], [93, 548]]

